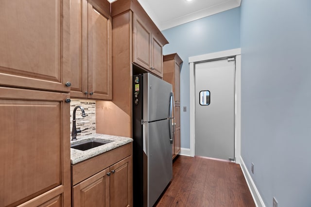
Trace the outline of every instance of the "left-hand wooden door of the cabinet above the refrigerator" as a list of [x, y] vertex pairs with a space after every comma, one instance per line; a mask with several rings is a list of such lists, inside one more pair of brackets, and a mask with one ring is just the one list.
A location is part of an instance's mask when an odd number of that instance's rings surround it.
[[151, 68], [151, 32], [134, 14], [133, 62], [145, 69]]

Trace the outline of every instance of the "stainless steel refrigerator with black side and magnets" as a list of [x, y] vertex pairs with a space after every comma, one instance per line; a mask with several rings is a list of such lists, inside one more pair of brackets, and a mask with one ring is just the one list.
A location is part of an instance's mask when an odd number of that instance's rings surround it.
[[150, 73], [133, 76], [133, 195], [152, 207], [173, 177], [172, 85]]

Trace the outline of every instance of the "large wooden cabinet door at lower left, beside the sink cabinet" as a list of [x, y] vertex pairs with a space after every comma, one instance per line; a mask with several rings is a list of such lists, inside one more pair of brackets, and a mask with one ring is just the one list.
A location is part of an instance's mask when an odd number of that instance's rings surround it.
[[0, 87], [0, 206], [70, 206], [69, 94]]

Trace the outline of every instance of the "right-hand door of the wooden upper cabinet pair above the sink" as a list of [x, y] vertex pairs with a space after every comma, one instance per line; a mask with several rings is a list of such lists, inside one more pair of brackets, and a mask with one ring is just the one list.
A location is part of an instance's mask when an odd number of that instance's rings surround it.
[[[104, 2], [104, 1], [102, 1]], [[112, 32], [110, 4], [88, 3], [88, 91], [89, 98], [112, 99]]]

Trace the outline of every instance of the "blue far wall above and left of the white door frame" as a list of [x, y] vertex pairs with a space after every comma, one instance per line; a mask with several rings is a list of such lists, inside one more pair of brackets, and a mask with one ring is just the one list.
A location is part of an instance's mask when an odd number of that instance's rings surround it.
[[[180, 75], [181, 147], [190, 148], [188, 58], [240, 48], [240, 7], [162, 31], [170, 44], [163, 53], [177, 52], [184, 61]], [[183, 107], [187, 107], [184, 112]]]

